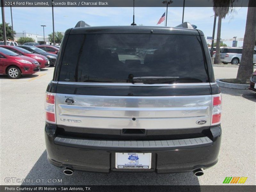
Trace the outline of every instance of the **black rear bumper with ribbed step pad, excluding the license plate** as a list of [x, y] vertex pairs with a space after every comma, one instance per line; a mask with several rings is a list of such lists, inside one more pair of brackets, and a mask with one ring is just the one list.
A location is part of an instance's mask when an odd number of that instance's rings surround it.
[[[45, 142], [48, 161], [59, 167], [92, 172], [149, 171], [188, 172], [206, 169], [218, 161], [221, 128], [210, 128], [212, 137], [179, 140], [116, 141], [72, 139], [55, 135], [56, 125], [46, 124]], [[148, 170], [116, 169], [116, 152], [152, 153]]]

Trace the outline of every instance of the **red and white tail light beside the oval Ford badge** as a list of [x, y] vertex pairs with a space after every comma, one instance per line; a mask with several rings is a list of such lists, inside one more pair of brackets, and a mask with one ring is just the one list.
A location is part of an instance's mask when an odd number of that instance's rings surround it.
[[212, 125], [220, 124], [221, 95], [213, 96], [212, 99]]

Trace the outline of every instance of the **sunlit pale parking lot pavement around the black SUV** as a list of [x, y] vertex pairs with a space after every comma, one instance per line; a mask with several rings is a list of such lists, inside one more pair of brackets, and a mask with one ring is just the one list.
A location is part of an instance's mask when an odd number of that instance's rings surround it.
[[[215, 78], [235, 78], [238, 68], [214, 67]], [[255, 185], [256, 92], [222, 88], [222, 143], [219, 162], [201, 177], [192, 172], [92, 173], [75, 171], [72, 176], [49, 164], [44, 144], [44, 93], [54, 68], [17, 80], [0, 76], [1, 130], [0, 185], [7, 177], [62, 179], [62, 183], [22, 185], [222, 185], [225, 177], [248, 177], [244, 185]], [[227, 184], [226, 184], [227, 185]]]

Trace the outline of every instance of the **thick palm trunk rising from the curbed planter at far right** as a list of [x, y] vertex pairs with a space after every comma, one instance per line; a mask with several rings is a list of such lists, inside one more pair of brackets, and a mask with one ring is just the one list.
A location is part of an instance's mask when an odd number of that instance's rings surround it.
[[256, 1], [249, 0], [241, 62], [236, 79], [246, 84], [253, 72], [254, 39], [256, 39]]

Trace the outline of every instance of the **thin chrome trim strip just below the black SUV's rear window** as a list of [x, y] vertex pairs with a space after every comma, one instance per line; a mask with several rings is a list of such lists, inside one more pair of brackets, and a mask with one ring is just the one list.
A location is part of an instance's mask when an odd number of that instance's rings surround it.
[[52, 83], [66, 84], [66, 85], [91, 85], [91, 86], [148, 86], [148, 87], [181, 87], [181, 86], [207, 86], [215, 83], [177, 83], [177, 84], [143, 84], [143, 83], [91, 83], [91, 82], [65, 82], [52, 81]]

